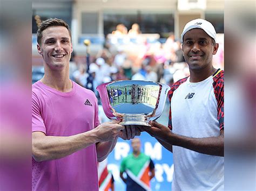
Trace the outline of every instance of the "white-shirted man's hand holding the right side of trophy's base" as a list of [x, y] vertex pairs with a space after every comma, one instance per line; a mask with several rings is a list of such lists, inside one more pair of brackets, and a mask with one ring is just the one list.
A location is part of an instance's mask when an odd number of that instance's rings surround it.
[[156, 121], [150, 121], [149, 124], [151, 126], [140, 126], [140, 131], [146, 131], [152, 137], [159, 139], [165, 139], [165, 137], [168, 137], [168, 135], [172, 133], [169, 128], [160, 123], [157, 123]]

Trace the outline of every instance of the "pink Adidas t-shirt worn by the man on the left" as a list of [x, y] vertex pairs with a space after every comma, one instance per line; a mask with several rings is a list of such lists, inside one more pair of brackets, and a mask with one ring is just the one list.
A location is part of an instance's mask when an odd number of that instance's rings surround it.
[[[99, 125], [95, 94], [72, 83], [68, 93], [40, 81], [32, 85], [32, 132], [71, 136]], [[57, 160], [32, 158], [32, 190], [98, 190], [96, 145]]]

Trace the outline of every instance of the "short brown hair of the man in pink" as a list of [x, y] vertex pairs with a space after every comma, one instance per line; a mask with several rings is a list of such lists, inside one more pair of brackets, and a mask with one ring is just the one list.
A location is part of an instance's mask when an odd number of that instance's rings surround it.
[[39, 26], [38, 26], [38, 30], [37, 30], [37, 43], [40, 45], [41, 44], [41, 39], [43, 37], [43, 31], [45, 29], [47, 29], [50, 26], [64, 26], [66, 27], [66, 29], [68, 29], [69, 31], [69, 35], [71, 38], [71, 31], [69, 28], [68, 23], [66, 23], [64, 20], [62, 19], [57, 19], [57, 18], [50, 18], [47, 20], [44, 20]]

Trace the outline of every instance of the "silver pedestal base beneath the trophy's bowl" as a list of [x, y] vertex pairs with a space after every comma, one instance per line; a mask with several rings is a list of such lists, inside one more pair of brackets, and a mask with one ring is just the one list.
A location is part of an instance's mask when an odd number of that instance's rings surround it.
[[120, 125], [144, 125], [150, 126], [146, 115], [144, 114], [125, 114]]

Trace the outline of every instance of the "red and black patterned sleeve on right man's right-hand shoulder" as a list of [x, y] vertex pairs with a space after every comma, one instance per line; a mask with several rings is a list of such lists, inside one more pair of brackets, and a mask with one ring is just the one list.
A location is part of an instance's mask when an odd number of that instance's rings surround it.
[[214, 83], [214, 94], [217, 100], [217, 112], [219, 128], [224, 129], [224, 74], [220, 74], [218, 81]]

